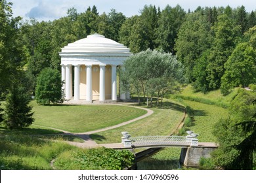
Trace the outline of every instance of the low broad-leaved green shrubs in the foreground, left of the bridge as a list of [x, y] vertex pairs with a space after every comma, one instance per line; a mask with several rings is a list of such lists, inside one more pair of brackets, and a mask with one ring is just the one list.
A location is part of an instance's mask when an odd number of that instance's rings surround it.
[[129, 150], [93, 148], [64, 152], [56, 159], [54, 166], [67, 170], [121, 170], [131, 167], [134, 158]]

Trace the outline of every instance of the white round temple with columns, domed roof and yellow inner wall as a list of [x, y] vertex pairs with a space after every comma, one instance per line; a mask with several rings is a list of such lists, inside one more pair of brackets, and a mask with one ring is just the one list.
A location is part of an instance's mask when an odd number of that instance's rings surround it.
[[[93, 34], [68, 44], [59, 54], [67, 101], [117, 101], [117, 67], [131, 55], [129, 48]], [[120, 99], [126, 98], [120, 94]]]

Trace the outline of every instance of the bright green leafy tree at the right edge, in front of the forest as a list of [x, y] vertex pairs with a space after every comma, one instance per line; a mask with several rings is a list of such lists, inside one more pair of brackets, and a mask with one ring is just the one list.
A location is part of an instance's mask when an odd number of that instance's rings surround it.
[[247, 42], [240, 43], [224, 63], [225, 73], [221, 78], [221, 91], [227, 94], [230, 88], [249, 86], [256, 82], [256, 52]]

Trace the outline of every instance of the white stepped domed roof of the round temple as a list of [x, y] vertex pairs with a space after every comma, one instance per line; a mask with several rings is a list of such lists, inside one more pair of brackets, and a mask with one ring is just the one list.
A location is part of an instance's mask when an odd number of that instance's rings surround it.
[[[112, 56], [116, 53], [120, 55], [130, 55], [130, 50], [123, 44], [120, 44], [111, 39], [105, 38], [103, 35], [93, 34], [88, 35], [85, 39], [80, 39], [73, 43], [68, 44], [62, 48], [60, 56], [65, 54], [89, 54], [89, 53], [102, 53], [104, 55], [111, 54]], [[91, 55], [91, 54], [90, 54]]]

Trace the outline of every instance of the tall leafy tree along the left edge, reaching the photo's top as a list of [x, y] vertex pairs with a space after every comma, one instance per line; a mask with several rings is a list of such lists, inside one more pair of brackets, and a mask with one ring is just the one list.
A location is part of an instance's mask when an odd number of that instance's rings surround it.
[[0, 1], [0, 93], [7, 92], [26, 60], [19, 31], [21, 18], [12, 18], [11, 6]]

